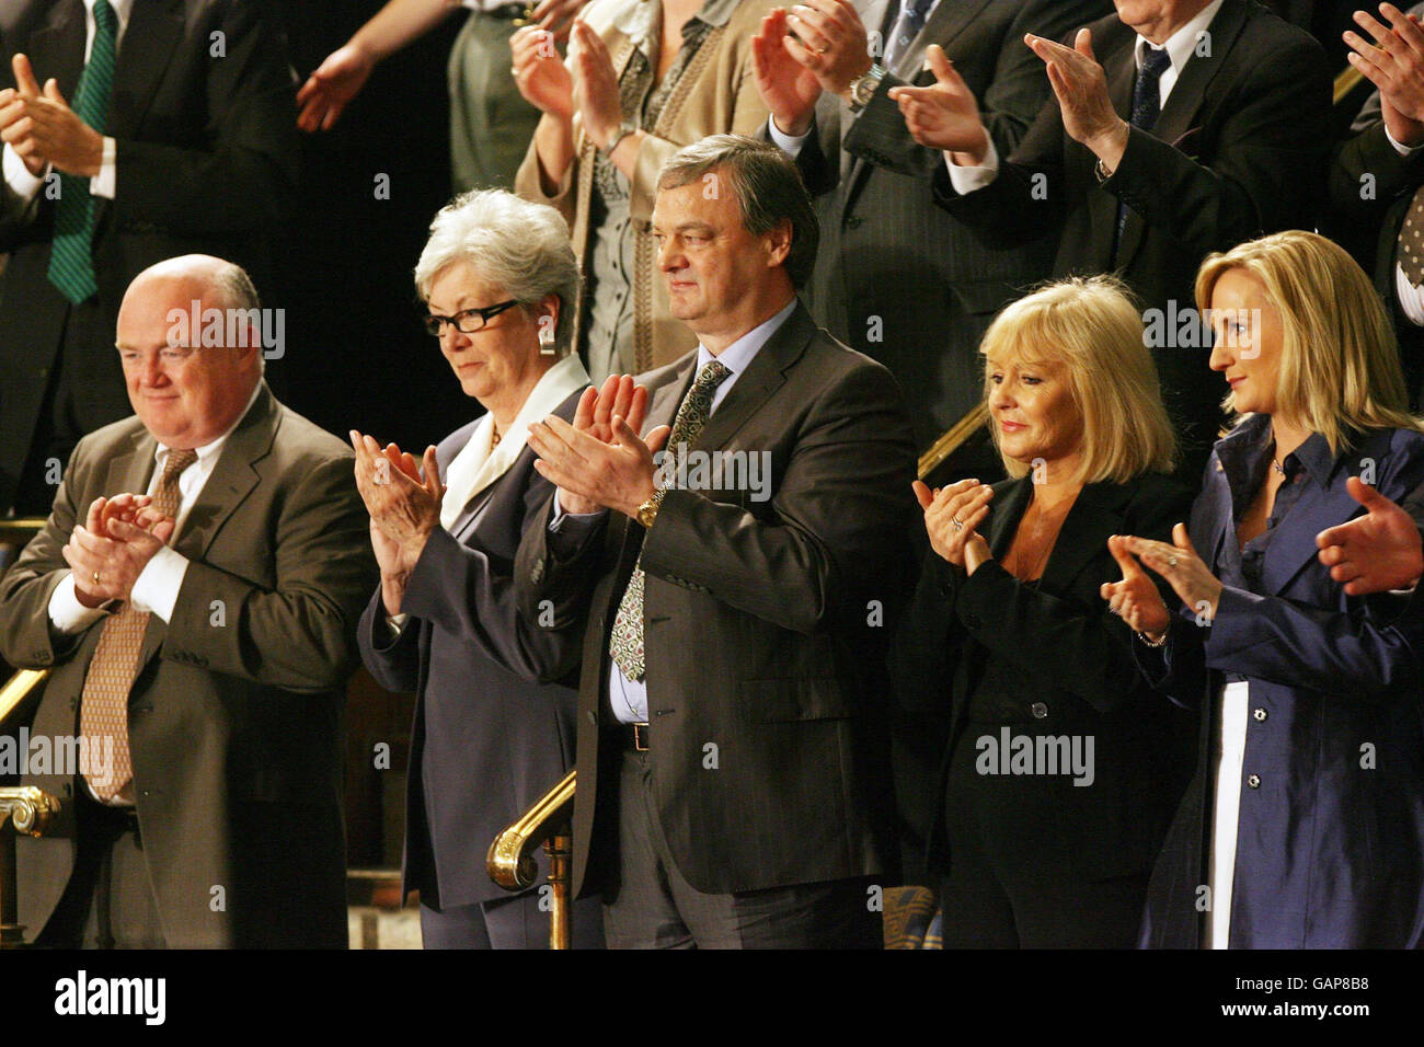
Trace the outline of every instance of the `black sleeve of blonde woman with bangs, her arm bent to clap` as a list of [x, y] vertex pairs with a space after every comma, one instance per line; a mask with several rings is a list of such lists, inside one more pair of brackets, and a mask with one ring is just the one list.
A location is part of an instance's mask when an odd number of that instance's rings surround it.
[[[1162, 497], [1161, 486], [1145, 483], [1122, 526], [1139, 537], [1171, 541], [1172, 524], [1186, 509], [1185, 491]], [[1098, 583], [1116, 577], [1114, 571]], [[1138, 641], [1106, 601], [1085, 605], [1059, 598], [990, 560], [958, 585], [954, 614], [967, 635], [1004, 658], [1020, 660], [1024, 672], [1077, 694], [1099, 712], [1112, 712], [1134, 695], [1139, 674], [1131, 647]]]

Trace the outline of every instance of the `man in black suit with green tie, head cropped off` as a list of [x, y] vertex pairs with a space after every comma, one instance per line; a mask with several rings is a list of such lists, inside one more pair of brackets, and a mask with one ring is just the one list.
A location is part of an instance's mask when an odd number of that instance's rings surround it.
[[128, 413], [111, 338], [140, 271], [212, 254], [271, 293], [293, 84], [269, 0], [3, 6], [0, 511], [44, 513], [78, 437]]

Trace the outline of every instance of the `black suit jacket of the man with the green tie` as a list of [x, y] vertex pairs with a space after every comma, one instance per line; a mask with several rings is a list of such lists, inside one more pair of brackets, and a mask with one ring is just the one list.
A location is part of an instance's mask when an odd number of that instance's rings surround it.
[[[214, 57], [221, 33], [224, 57]], [[0, 4], [0, 87], [24, 53], [71, 103], [84, 71], [81, 0]], [[114, 199], [95, 198], [94, 271], [100, 340], [67, 360], [84, 432], [132, 407], [114, 352], [124, 291], [142, 269], [201, 252], [248, 269], [271, 288], [272, 241], [296, 184], [296, 75], [271, 0], [140, 0], [114, 67], [104, 134], [117, 142]], [[68, 302], [50, 283], [54, 202], [30, 207], [0, 181], [0, 507], [11, 504], [30, 452]]]

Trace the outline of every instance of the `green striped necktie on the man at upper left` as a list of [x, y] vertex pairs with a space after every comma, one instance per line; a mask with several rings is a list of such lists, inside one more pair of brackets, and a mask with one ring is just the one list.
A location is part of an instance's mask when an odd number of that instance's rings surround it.
[[[80, 77], [74, 97], [74, 113], [91, 128], [104, 134], [108, 115], [108, 95], [114, 87], [114, 41], [118, 19], [108, 0], [94, 3], [94, 46]], [[60, 202], [54, 208], [54, 242], [50, 248], [50, 282], [70, 302], [80, 302], [98, 293], [94, 279], [94, 199], [90, 179], [81, 175], [60, 175]]]

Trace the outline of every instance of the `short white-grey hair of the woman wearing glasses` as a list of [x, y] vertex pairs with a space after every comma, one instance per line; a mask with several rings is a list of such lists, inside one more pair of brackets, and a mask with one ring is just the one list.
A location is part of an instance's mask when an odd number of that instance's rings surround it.
[[416, 262], [420, 301], [430, 298], [441, 272], [460, 262], [468, 262], [480, 279], [503, 288], [506, 298], [525, 311], [558, 295], [554, 348], [560, 356], [570, 352], [580, 279], [568, 222], [558, 211], [504, 189], [460, 194], [430, 222], [430, 239]]

